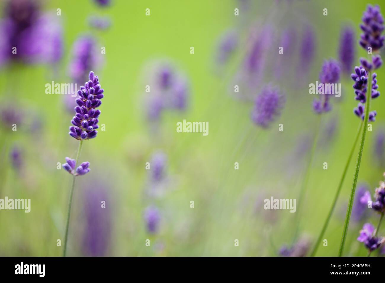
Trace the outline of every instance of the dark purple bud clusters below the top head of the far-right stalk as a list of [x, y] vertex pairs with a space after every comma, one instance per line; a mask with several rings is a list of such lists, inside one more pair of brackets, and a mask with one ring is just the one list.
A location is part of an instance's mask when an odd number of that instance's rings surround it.
[[[363, 66], [355, 67], [355, 73], [351, 74], [350, 77], [354, 80], [355, 84], [353, 85], [353, 89], [355, 89], [355, 99], [359, 100], [358, 106], [354, 109], [354, 113], [360, 117], [361, 119], [365, 118], [365, 102], [367, 100], [367, 85], [368, 85], [368, 72], [365, 70]], [[377, 90], [377, 74], [373, 73], [372, 75], [372, 99], [380, 96], [380, 92]], [[369, 121], [374, 122], [375, 117], [377, 115], [377, 111], [369, 112]]]

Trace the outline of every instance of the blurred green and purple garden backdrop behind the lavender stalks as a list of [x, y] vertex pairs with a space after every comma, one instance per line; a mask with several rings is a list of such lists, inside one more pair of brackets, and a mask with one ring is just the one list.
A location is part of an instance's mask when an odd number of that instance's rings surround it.
[[[2, 35], [14, 32], [4, 23], [8, 2], [1, 2]], [[24, 7], [16, 13], [23, 18], [28, 15], [26, 3], [33, 1], [12, 2]], [[45, 84], [77, 82], [71, 70], [79, 51], [76, 42], [84, 36], [93, 40], [87, 49], [93, 60], [87, 61], [89, 69], [80, 75], [78, 87], [90, 70], [99, 75], [105, 90], [99, 125], [104, 124], [105, 131], [85, 141], [81, 152], [80, 162], [89, 161], [92, 170], [77, 177], [68, 255], [278, 256], [283, 246], [295, 244], [296, 217], [298, 241], [305, 250], [312, 247], [359, 123], [353, 114], [357, 103], [349, 74], [341, 75], [342, 95], [321, 117], [300, 215], [264, 210], [263, 200], [298, 199], [319, 118], [312, 110], [314, 95], [308, 84], [318, 80], [325, 59], [339, 60], [344, 27], [352, 27], [358, 41], [362, 13], [370, 2], [111, 0], [106, 6], [97, 2], [39, 2], [35, 12], [46, 15], [47, 21], [25, 43], [31, 54], [11, 57], [5, 40], [0, 44], [8, 52], [0, 60], [0, 108], [17, 121], [17, 131], [12, 131], [13, 122], [2, 120], [0, 198], [31, 199], [30, 213], [0, 211], [0, 255], [63, 253], [72, 177], [57, 169], [57, 162], [75, 158], [78, 141], [68, 134], [73, 101], [67, 94], [46, 94]], [[323, 8], [328, 9], [327, 16]], [[293, 31], [291, 53], [282, 60], [278, 47], [287, 28]], [[310, 60], [304, 62], [301, 40], [306, 30], [313, 33], [314, 46]], [[23, 35], [14, 34], [17, 39]], [[261, 42], [257, 56], [263, 64], [257, 77], [248, 77], [244, 60], [253, 40]], [[353, 64], [365, 55], [357, 43]], [[163, 66], [182, 84], [181, 104], [164, 106], [156, 100]], [[381, 91], [383, 69], [377, 74]], [[281, 116], [262, 128], [250, 117], [254, 97], [267, 84], [280, 87], [286, 104]], [[151, 87], [149, 93], [146, 85]], [[239, 85], [239, 93], [234, 93], [234, 85]], [[371, 192], [385, 171], [384, 106], [382, 96], [373, 100], [377, 121], [367, 134], [359, 175], [359, 186]], [[157, 112], [156, 107], [162, 110]], [[176, 132], [176, 123], [183, 119], [209, 122], [208, 136]], [[278, 131], [279, 124], [284, 131]], [[337, 255], [356, 156], [324, 236], [328, 246], [318, 249], [319, 256]], [[239, 163], [238, 170], [234, 162]], [[328, 162], [327, 170], [323, 162]], [[367, 255], [356, 241], [367, 221], [377, 224], [378, 215], [352, 218], [345, 255]], [[62, 240], [61, 247], [57, 239]], [[235, 239], [239, 246], [234, 246]]]

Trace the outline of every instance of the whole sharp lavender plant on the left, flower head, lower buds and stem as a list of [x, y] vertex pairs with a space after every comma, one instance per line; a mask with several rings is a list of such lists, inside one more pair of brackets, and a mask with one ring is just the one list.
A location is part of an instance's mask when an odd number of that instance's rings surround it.
[[89, 81], [85, 85], [80, 87], [78, 90], [79, 97], [76, 99], [78, 106], [75, 107], [75, 116], [71, 120], [71, 123], [74, 126], [70, 127], [69, 135], [79, 140], [79, 148], [76, 154], [76, 159], [70, 159], [66, 157], [67, 163], [63, 164], [63, 168], [72, 174], [74, 177], [72, 179], [72, 187], [70, 191], [70, 200], [67, 214], [67, 225], [65, 228], [65, 238], [64, 238], [64, 253], [66, 255], [67, 251], [67, 240], [68, 240], [68, 228], [71, 216], [71, 206], [72, 206], [72, 196], [74, 194], [75, 188], [75, 179], [77, 176], [82, 176], [87, 174], [90, 171], [89, 162], [83, 162], [79, 167], [76, 167], [77, 162], [79, 161], [80, 151], [82, 149], [82, 144], [84, 140], [93, 139], [97, 135], [96, 129], [98, 128], [97, 123], [98, 117], [100, 115], [100, 110], [96, 108], [102, 103], [100, 99], [104, 97], [104, 89], [101, 88], [99, 84], [99, 77], [94, 75], [94, 72], [90, 72]]

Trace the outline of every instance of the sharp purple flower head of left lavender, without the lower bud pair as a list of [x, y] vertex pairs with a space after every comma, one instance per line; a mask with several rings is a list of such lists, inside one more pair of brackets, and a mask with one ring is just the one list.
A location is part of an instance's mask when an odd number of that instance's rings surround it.
[[93, 139], [97, 134], [95, 129], [99, 127], [97, 118], [100, 110], [96, 108], [102, 104], [100, 99], [104, 97], [104, 89], [101, 88], [99, 77], [95, 76], [94, 72], [90, 72], [89, 79], [77, 92], [80, 98], [76, 99], [76, 114], [71, 120], [74, 126], [70, 127], [69, 135], [78, 140]]

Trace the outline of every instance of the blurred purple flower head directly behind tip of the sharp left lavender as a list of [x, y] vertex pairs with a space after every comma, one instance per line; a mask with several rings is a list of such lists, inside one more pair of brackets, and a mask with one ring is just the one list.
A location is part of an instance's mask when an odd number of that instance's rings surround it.
[[77, 83], [84, 82], [90, 69], [97, 65], [96, 42], [90, 35], [79, 37], [73, 47], [73, 59], [69, 65], [70, 77]]

